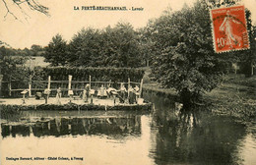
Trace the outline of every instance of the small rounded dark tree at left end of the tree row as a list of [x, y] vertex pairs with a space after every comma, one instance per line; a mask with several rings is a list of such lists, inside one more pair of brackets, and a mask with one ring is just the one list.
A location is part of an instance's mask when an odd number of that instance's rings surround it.
[[67, 64], [67, 54], [67, 42], [60, 34], [56, 34], [45, 47], [43, 56], [44, 61], [49, 62], [51, 66], [64, 66]]

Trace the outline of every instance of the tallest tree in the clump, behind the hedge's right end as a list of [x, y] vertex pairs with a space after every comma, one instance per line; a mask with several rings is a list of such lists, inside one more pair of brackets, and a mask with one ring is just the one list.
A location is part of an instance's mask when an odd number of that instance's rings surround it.
[[138, 32], [128, 23], [118, 23], [115, 27], [106, 27], [102, 55], [104, 65], [112, 67], [140, 67], [142, 61]]

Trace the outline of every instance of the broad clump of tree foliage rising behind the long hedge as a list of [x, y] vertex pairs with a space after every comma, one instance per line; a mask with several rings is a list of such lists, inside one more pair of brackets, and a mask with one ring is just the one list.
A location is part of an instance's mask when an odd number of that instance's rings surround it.
[[69, 44], [68, 64], [83, 67], [139, 67], [141, 47], [130, 24], [102, 30], [83, 28]]

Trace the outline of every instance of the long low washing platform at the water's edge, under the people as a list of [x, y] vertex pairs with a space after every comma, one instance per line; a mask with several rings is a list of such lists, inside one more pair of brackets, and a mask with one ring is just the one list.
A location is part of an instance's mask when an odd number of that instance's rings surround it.
[[143, 102], [142, 104], [128, 104], [119, 103], [119, 101], [116, 99], [116, 102], [114, 103], [113, 98], [94, 98], [93, 103], [91, 103], [91, 98], [89, 98], [89, 102], [85, 102], [82, 99], [72, 99], [70, 102], [70, 98], [61, 98], [60, 102], [61, 104], [58, 104], [55, 97], [50, 97], [47, 101], [47, 104], [45, 104], [44, 99], [36, 100], [35, 98], [26, 98], [24, 103], [22, 98], [2, 98], [0, 99], [0, 111], [150, 111], [153, 108], [153, 104], [150, 102]]

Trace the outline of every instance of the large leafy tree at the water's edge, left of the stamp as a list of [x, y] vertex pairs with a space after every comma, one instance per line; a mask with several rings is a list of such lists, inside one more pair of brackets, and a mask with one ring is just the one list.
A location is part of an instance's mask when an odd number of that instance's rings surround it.
[[165, 12], [148, 27], [156, 54], [153, 74], [164, 87], [178, 91], [184, 106], [221, 81], [222, 55], [213, 49], [209, 15], [208, 7], [197, 2], [192, 8]]

